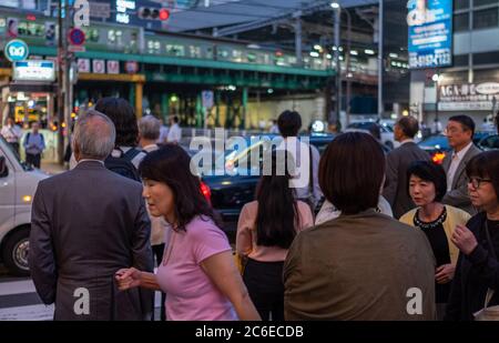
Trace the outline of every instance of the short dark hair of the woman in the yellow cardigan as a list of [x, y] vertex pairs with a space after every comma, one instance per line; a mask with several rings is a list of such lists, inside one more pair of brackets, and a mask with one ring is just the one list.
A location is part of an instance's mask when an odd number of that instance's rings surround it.
[[431, 182], [435, 185], [435, 200], [440, 202], [447, 192], [447, 175], [444, 168], [428, 161], [415, 161], [407, 169], [406, 190], [409, 192], [410, 176], [415, 175], [424, 181]]

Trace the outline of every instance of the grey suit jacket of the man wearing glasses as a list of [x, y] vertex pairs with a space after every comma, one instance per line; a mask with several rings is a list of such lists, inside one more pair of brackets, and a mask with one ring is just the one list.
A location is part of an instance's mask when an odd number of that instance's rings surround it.
[[[447, 194], [442, 199], [444, 203], [465, 210], [471, 215], [476, 214], [477, 210], [472, 206], [471, 201], [469, 200], [466, 164], [468, 164], [471, 158], [479, 154], [481, 150], [475, 147], [475, 144], [471, 145], [471, 148], [465, 154], [465, 157], [462, 158], [461, 162], [459, 163], [456, 170], [450, 192], [447, 192]], [[444, 170], [446, 171], [446, 174], [449, 172], [451, 161], [452, 161], [452, 152], [449, 152], [445, 157], [444, 162], [441, 164], [444, 167]]]

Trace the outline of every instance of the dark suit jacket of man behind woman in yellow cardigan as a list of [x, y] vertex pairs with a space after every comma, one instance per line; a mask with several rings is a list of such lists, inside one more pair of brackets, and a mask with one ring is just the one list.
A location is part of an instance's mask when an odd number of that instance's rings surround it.
[[394, 218], [398, 219], [416, 208], [407, 189], [407, 169], [410, 163], [429, 160], [429, 154], [414, 142], [401, 144], [386, 157], [386, 181], [383, 195], [391, 205]]

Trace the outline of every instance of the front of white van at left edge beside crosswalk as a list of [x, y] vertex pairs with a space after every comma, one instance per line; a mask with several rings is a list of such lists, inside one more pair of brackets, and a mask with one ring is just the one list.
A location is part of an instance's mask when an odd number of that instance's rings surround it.
[[0, 259], [13, 275], [29, 275], [31, 201], [48, 176], [21, 162], [0, 137]]

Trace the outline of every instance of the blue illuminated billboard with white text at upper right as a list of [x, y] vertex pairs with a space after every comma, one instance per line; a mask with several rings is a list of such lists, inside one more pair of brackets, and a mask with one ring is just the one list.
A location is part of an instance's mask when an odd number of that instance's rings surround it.
[[409, 0], [409, 68], [452, 65], [452, 0]]

